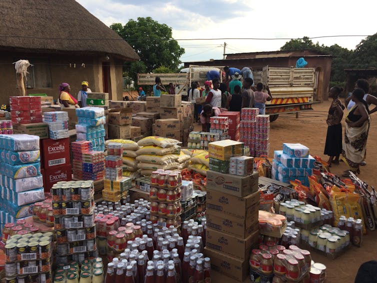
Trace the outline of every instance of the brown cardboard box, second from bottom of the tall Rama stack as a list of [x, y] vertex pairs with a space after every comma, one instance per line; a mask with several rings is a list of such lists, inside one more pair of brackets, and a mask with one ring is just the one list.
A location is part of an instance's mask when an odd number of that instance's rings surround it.
[[251, 249], [258, 244], [259, 231], [243, 239], [207, 227], [205, 242], [213, 250], [243, 260], [249, 258]]

